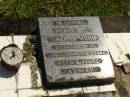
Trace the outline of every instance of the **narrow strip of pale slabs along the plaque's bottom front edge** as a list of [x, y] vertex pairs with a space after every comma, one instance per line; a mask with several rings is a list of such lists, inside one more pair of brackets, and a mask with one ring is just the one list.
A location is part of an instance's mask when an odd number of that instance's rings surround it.
[[[101, 85], [101, 86], [89, 86], [81, 88], [69, 88], [69, 89], [55, 89], [49, 90], [49, 96], [59, 96], [59, 95], [71, 95], [71, 94], [85, 94], [85, 93], [103, 93], [116, 91], [115, 85]], [[100, 97], [100, 96], [99, 96]]]

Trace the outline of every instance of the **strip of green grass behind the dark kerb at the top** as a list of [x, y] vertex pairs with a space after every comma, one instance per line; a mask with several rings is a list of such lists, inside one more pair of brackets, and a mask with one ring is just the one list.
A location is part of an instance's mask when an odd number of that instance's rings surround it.
[[128, 15], [128, 5], [128, 0], [3, 0], [0, 1], [0, 15], [124, 16]]

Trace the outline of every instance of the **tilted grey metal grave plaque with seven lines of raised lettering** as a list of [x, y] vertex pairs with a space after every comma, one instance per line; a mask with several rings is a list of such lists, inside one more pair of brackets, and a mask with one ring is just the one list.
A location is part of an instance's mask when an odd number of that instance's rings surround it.
[[114, 79], [98, 17], [39, 18], [48, 83], [102, 83]]

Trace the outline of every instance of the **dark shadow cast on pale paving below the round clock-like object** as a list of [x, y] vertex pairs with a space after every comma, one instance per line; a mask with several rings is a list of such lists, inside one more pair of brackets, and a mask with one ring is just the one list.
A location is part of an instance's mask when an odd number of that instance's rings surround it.
[[7, 70], [5, 67], [1, 65], [1, 62], [0, 62], [0, 77], [1, 78], [10, 78], [14, 76], [15, 74], [16, 74], [15, 71]]

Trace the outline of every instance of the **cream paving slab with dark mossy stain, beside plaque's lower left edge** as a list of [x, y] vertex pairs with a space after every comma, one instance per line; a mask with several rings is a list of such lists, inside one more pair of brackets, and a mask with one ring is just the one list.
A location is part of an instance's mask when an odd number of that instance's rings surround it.
[[[37, 68], [33, 71], [33, 68]], [[42, 88], [41, 76], [37, 64], [23, 63], [18, 71], [18, 89]], [[32, 69], [31, 69], [32, 68]]]

